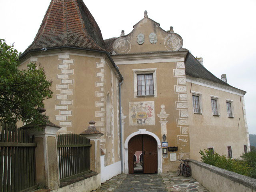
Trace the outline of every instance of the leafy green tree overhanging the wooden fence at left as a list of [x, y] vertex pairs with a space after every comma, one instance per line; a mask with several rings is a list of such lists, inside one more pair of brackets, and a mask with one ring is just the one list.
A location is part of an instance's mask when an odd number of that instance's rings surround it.
[[0, 122], [43, 124], [48, 117], [37, 108], [44, 107], [45, 98], [52, 98], [52, 81], [40, 64], [29, 63], [20, 70], [19, 56], [13, 44], [0, 39]]

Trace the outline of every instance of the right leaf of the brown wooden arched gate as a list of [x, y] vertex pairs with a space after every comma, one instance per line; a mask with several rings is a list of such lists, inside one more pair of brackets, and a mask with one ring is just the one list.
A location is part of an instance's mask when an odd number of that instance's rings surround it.
[[150, 135], [143, 135], [143, 173], [157, 173], [157, 142]]

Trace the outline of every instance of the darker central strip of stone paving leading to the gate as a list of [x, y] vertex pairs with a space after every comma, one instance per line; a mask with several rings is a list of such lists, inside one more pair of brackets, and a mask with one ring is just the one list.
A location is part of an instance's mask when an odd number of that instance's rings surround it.
[[167, 192], [158, 174], [129, 174], [114, 192]]

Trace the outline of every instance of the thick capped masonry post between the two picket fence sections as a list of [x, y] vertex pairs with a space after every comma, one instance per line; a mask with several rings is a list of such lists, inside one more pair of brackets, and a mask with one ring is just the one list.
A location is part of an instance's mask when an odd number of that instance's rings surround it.
[[32, 125], [21, 127], [31, 136], [35, 136], [36, 183], [41, 188], [57, 189], [60, 186], [58, 149], [56, 133], [61, 128], [47, 121], [44, 126], [33, 128]]

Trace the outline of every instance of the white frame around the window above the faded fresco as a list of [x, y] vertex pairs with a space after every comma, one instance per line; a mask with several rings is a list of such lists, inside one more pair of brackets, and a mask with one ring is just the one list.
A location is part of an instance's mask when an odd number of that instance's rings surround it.
[[[156, 70], [157, 68], [147, 68], [147, 69], [133, 69], [133, 82], [134, 82], [134, 98], [143, 97], [137, 96], [137, 74], [146, 74], [146, 73], [153, 73], [153, 89], [154, 89], [154, 96], [157, 97], [157, 86], [156, 86]], [[147, 97], [147, 95], [144, 95]]]

